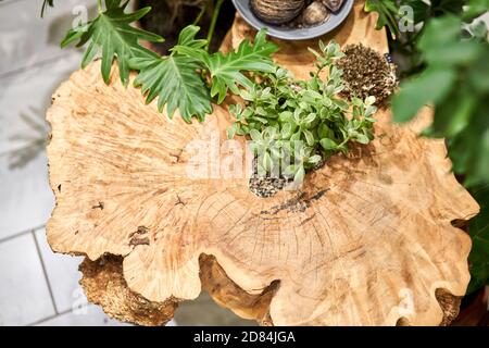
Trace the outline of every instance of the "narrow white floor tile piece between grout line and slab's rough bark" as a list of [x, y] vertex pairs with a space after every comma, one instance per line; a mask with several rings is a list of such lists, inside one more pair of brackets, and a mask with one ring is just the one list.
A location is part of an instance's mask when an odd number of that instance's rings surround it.
[[86, 303], [87, 299], [78, 284], [82, 277], [82, 273], [78, 272], [78, 264], [84, 258], [54, 253], [46, 239], [45, 228], [36, 231], [36, 239], [48, 273], [48, 281], [51, 285], [58, 312], [65, 312], [80, 303]]

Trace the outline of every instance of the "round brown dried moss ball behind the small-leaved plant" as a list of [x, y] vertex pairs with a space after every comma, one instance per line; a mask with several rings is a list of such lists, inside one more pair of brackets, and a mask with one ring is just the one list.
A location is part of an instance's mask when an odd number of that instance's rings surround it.
[[377, 51], [363, 45], [348, 45], [336, 65], [343, 71], [347, 88], [343, 95], [365, 99], [374, 96], [385, 107], [398, 86], [396, 65]]

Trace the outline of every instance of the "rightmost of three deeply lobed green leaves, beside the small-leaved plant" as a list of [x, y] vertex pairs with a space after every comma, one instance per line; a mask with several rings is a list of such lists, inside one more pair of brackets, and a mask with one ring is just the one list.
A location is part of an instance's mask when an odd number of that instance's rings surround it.
[[266, 41], [266, 30], [261, 29], [253, 45], [243, 40], [236, 52], [226, 55], [215, 52], [210, 57], [201, 57], [211, 73], [211, 96], [217, 96], [217, 103], [222, 103], [228, 89], [238, 95], [238, 85], [252, 88], [253, 83], [241, 72], [275, 72], [277, 67], [271, 55], [277, 50], [277, 46]]

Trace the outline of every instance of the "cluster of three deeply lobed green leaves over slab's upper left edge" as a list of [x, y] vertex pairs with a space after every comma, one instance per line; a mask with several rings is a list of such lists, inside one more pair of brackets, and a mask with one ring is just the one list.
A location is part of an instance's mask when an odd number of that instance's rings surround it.
[[189, 25], [180, 32], [170, 55], [160, 57], [142, 47], [140, 40], [162, 41], [163, 38], [129, 25], [151, 8], [125, 13], [127, 3], [105, 0], [105, 10], [99, 7], [98, 16], [71, 29], [61, 46], [76, 40], [77, 46], [88, 45], [82, 67], [101, 53], [105, 83], [110, 80], [114, 58], [124, 85], [129, 82], [129, 72], [138, 71], [135, 85], [141, 87], [147, 102], [158, 97], [159, 110], [166, 105], [168, 116], [178, 110], [186, 122], [191, 122], [193, 116], [203, 121], [205, 114], [212, 112], [212, 97], [216, 97], [216, 103], [222, 103], [228, 89], [238, 92], [238, 85], [251, 88], [251, 80], [242, 72], [272, 72], [274, 69], [271, 54], [277, 47], [266, 41], [265, 29], [256, 34], [254, 44], [244, 40], [236, 52], [211, 54], [204, 50], [208, 41], [196, 39], [199, 27]]

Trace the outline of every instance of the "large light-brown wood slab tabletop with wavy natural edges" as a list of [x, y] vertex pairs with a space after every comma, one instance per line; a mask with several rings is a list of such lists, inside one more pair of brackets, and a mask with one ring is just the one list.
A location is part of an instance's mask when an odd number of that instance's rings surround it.
[[[361, 5], [324, 40], [387, 51]], [[252, 36], [238, 17], [223, 50]], [[276, 60], [305, 77], [317, 41], [279, 45]], [[204, 123], [168, 120], [116, 70], [105, 86], [99, 64], [62, 84], [48, 112], [48, 240], [87, 257], [82, 284], [109, 314], [163, 324], [204, 289], [265, 325], [439, 325], [456, 315], [471, 239], [451, 222], [478, 206], [451, 174], [443, 141], [418, 136], [429, 109], [403, 127], [379, 111], [372, 144], [335, 156], [300, 191], [259, 198], [246, 176], [220, 175], [229, 149], [211, 145], [227, 144], [224, 108]], [[191, 177], [202, 149], [212, 175]]]

